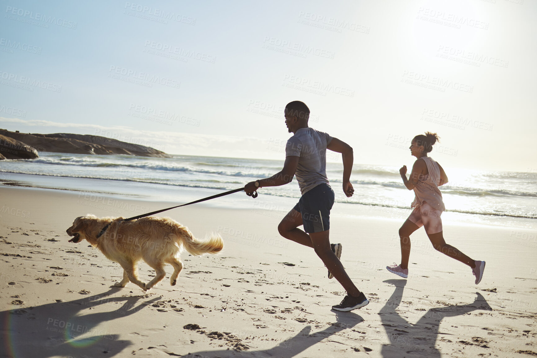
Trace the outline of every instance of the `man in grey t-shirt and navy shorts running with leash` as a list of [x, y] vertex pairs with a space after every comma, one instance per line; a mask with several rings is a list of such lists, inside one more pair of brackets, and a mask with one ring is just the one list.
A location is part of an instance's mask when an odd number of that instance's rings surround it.
[[[313, 247], [315, 253], [347, 291], [343, 301], [332, 306], [338, 311], [351, 311], [369, 303], [339, 261], [341, 245], [330, 245], [330, 209], [334, 202], [334, 192], [326, 178], [326, 149], [343, 156], [343, 192], [352, 196], [354, 188], [350, 182], [353, 153], [349, 144], [333, 138], [321, 131], [308, 127], [309, 108], [301, 101], [292, 101], [285, 107], [285, 124], [289, 138], [285, 147], [284, 168], [267, 179], [251, 181], [244, 191], [252, 195], [264, 186], [285, 185], [293, 180], [299, 182], [302, 197], [295, 207], [278, 225], [280, 235], [304, 246]], [[298, 227], [303, 225], [304, 231]]]

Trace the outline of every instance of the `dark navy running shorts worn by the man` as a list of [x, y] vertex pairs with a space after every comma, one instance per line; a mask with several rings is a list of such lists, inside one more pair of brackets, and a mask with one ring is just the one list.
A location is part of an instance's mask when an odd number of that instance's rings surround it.
[[302, 195], [295, 209], [302, 214], [304, 231], [321, 232], [330, 229], [330, 209], [334, 204], [334, 192], [328, 184], [319, 184]]

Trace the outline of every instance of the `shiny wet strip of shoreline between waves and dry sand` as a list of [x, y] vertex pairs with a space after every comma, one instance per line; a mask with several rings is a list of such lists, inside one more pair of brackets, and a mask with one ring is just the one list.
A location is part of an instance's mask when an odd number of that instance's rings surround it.
[[[10, 187], [31, 187], [34, 189], [72, 192], [76, 193], [79, 196], [79, 199], [82, 198], [83, 203], [86, 206], [90, 208], [105, 208], [117, 216], [122, 215], [122, 211], [116, 210], [117, 207], [114, 208], [113, 204], [112, 206], [102, 205], [104, 201], [107, 201], [108, 196], [112, 196], [116, 199], [138, 200], [141, 202], [161, 202], [161, 208], [164, 208], [173, 206], [173, 204], [169, 203], [190, 202], [228, 190], [206, 187], [149, 184], [138, 181], [122, 181], [114, 179], [57, 177], [49, 176], [47, 174], [7, 174], [9, 175], [0, 176], [0, 188], [9, 185]], [[58, 184], [59, 179], [61, 180], [61, 184]], [[6, 184], [6, 182], [8, 183]], [[240, 184], [237, 184], [237, 186], [240, 186]], [[103, 189], [104, 187], [106, 189]], [[284, 217], [285, 214], [294, 207], [298, 200], [299, 198], [263, 194], [263, 192], [260, 192], [257, 199], [251, 199], [245, 195], [241, 196], [241, 193], [236, 193], [231, 196], [223, 196], [222, 198], [200, 203], [198, 205], [226, 209], [246, 209], [258, 211], [258, 213], [263, 216]], [[95, 202], [95, 205], [92, 202]], [[101, 205], [96, 206], [99, 202]], [[117, 201], [114, 203], [117, 203]], [[144, 204], [139, 205], [144, 206]], [[270, 211], [270, 214], [265, 213], [266, 210]], [[410, 204], [408, 208], [399, 208], [383, 206], [380, 204], [345, 202], [336, 202], [332, 211], [338, 216], [343, 215], [355, 218], [367, 217], [372, 219], [384, 218], [391, 221], [398, 221], [400, 224], [402, 224], [411, 213]], [[136, 212], [138, 214], [143, 214], [143, 212], [140, 212], [139, 210]], [[511, 215], [473, 214], [446, 210], [442, 213], [442, 221], [455, 225], [482, 225], [485, 227], [523, 228], [525, 230], [537, 231], [537, 220], [534, 218]]]

